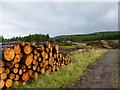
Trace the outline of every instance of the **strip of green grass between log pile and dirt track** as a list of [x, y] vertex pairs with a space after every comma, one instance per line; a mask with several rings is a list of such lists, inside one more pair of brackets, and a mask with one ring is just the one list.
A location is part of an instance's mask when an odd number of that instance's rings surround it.
[[50, 74], [41, 74], [38, 80], [29, 80], [27, 85], [18, 86], [17, 88], [60, 88], [64, 85], [74, 82], [77, 78], [85, 75], [88, 65], [93, 64], [100, 56], [107, 52], [100, 49], [83, 49], [72, 53], [69, 56], [72, 63], [62, 67], [59, 71]]

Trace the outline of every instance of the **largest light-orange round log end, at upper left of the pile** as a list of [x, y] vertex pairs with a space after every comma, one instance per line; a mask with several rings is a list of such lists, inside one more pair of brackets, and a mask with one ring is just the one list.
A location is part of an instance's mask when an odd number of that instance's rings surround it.
[[12, 48], [6, 48], [4, 51], [4, 59], [7, 61], [12, 61], [15, 57], [15, 52]]

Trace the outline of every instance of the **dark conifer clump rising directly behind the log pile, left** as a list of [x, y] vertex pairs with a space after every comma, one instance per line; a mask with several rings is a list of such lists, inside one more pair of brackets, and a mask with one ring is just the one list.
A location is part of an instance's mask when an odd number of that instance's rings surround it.
[[13, 37], [13, 38], [10, 38], [10, 39], [4, 39], [2, 37], [2, 41], [3, 42], [11, 42], [11, 41], [26, 41], [26, 42], [29, 42], [29, 41], [38, 41], [38, 42], [44, 42], [44, 41], [48, 41], [49, 40], [49, 34], [30, 34], [28, 36], [24, 36], [24, 37]]

